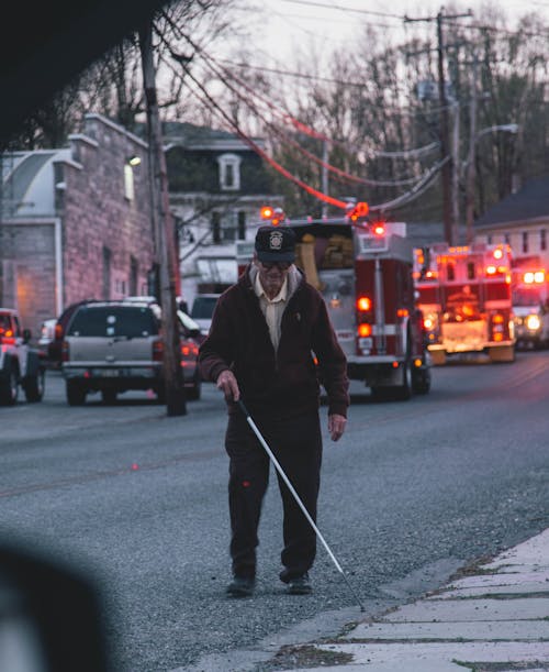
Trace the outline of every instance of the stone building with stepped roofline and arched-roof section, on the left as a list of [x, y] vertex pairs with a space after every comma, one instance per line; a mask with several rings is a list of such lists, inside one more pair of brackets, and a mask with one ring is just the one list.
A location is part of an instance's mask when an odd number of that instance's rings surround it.
[[74, 301], [148, 294], [147, 145], [100, 114], [83, 121], [66, 148], [1, 157], [0, 305], [34, 333]]

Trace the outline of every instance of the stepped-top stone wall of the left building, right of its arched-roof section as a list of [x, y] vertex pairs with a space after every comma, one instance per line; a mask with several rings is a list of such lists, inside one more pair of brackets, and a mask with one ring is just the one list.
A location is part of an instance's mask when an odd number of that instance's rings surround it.
[[[87, 118], [85, 136], [71, 136], [71, 143], [76, 161], [63, 164], [60, 199], [64, 304], [122, 298], [133, 289], [146, 294], [153, 232], [145, 144], [99, 117]], [[132, 199], [125, 195], [124, 169], [135, 154], [142, 163], [131, 168]]]

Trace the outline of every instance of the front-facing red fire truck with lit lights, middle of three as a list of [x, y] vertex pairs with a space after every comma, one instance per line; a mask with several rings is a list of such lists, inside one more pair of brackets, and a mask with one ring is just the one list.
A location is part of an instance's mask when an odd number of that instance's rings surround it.
[[414, 256], [417, 304], [433, 363], [470, 353], [513, 362], [511, 247], [436, 243], [416, 249]]

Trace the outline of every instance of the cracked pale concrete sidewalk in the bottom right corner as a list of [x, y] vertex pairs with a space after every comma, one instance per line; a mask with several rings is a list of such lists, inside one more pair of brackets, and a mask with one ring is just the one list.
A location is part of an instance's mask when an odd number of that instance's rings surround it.
[[292, 656], [302, 667], [279, 656], [281, 667], [257, 669], [549, 672], [549, 529], [329, 643], [292, 647]]

